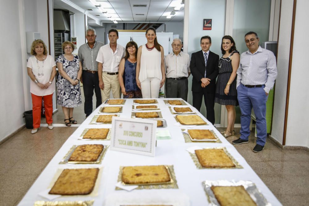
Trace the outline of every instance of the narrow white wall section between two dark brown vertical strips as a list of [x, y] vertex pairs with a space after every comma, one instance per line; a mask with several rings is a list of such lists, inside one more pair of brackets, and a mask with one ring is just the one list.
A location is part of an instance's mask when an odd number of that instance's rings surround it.
[[[282, 144], [289, 69], [293, 1], [282, 0], [271, 136]], [[295, 40], [295, 36], [294, 36]], [[293, 58], [294, 59], [294, 58]]]

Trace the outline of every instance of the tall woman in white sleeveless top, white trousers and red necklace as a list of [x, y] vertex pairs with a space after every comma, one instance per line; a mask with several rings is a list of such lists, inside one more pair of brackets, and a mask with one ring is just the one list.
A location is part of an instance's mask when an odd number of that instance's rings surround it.
[[165, 82], [164, 51], [154, 28], [146, 30], [146, 38], [147, 43], [138, 48], [136, 83], [143, 98], [159, 98], [159, 90]]

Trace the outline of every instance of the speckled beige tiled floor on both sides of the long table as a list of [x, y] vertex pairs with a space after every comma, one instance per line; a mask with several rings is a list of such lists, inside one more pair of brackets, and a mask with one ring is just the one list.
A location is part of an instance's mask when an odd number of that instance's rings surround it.
[[[83, 96], [83, 95], [82, 95]], [[81, 123], [85, 119], [83, 105], [74, 111], [74, 118]], [[53, 116], [54, 123], [63, 124], [62, 110]], [[44, 123], [44, 119], [41, 121]], [[24, 128], [0, 145], [0, 205], [19, 203], [32, 183], [57, 153], [61, 145], [77, 127], [42, 127], [36, 134]], [[223, 131], [223, 128], [218, 128]], [[233, 141], [239, 137], [228, 137]], [[238, 135], [237, 135], [238, 134]], [[267, 140], [262, 153], [253, 153], [253, 132], [249, 144], [235, 148], [247, 160], [256, 174], [264, 181], [283, 205], [309, 205], [309, 152], [281, 150]]]

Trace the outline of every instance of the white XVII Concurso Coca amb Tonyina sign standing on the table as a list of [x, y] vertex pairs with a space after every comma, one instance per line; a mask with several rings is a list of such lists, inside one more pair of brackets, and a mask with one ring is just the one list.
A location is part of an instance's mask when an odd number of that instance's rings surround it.
[[155, 156], [156, 120], [112, 117], [110, 149]]

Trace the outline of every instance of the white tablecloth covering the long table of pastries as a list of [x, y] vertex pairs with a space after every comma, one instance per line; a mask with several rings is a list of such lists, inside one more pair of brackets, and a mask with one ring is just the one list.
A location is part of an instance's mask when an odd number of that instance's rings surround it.
[[[166, 99], [167, 100], [167, 99]], [[33, 183], [23, 199], [18, 205], [33, 205], [37, 200], [44, 200], [38, 194], [52, 186], [55, 175], [59, 173], [59, 169], [64, 168], [89, 168], [99, 167], [99, 179], [96, 182], [95, 191], [90, 195], [72, 195], [61, 196], [52, 201], [67, 200], [94, 200], [93, 205], [119, 205], [115, 202], [129, 201], [135, 202], [154, 202], [154, 200], [174, 201], [175, 205], [208, 205], [207, 196], [202, 187], [205, 180], [250, 180], [256, 184], [256, 187], [262, 192], [267, 201], [272, 205], [281, 205], [269, 188], [263, 183], [258, 175], [248, 165], [246, 160], [237, 152], [220, 132], [193, 106], [188, 106], [195, 111], [208, 125], [199, 125], [194, 129], [210, 129], [214, 130], [222, 143], [205, 143], [191, 142], [185, 143], [181, 131], [181, 126], [176, 126], [175, 115], [171, 114], [169, 108], [163, 102], [163, 99], [157, 99], [163, 119], [167, 121], [166, 128], [157, 128], [158, 130], [169, 130], [171, 134], [170, 140], [157, 140], [155, 157], [143, 156], [132, 153], [113, 151], [108, 149], [101, 164], [59, 164], [66, 153], [73, 145], [83, 144], [103, 144], [110, 145], [110, 141], [87, 141], [78, 138], [86, 128], [110, 128], [111, 124], [89, 124], [95, 115], [99, 115], [98, 107], [92, 114], [76, 129], [76, 131], [62, 145], [56, 155], [42, 171], [40, 176]], [[132, 99], [126, 99], [120, 117], [131, 118]], [[102, 105], [103, 106], [103, 105]], [[135, 112], [135, 111], [133, 111]], [[228, 152], [239, 162], [243, 169], [197, 169], [187, 148], [192, 146], [199, 147], [226, 147]], [[142, 189], [142, 190], [115, 190], [120, 166], [138, 166], [138, 165], [173, 165], [178, 184], [178, 189]], [[35, 165], [34, 165], [35, 166]]]

